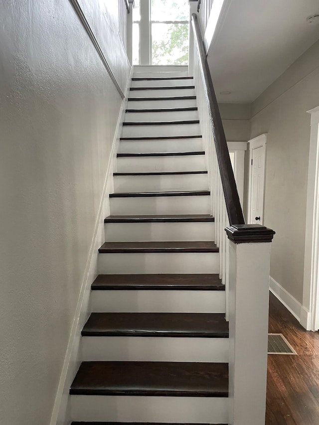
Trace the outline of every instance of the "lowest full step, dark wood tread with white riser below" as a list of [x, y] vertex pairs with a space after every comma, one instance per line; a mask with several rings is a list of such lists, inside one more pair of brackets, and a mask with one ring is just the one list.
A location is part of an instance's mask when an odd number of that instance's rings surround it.
[[225, 424], [228, 364], [83, 362], [70, 395], [73, 421]]

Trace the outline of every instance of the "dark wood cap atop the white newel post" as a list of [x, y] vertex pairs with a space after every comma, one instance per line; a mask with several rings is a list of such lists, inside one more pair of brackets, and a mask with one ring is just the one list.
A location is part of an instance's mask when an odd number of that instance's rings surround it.
[[232, 224], [225, 228], [228, 239], [234, 244], [271, 242], [276, 232], [260, 224]]

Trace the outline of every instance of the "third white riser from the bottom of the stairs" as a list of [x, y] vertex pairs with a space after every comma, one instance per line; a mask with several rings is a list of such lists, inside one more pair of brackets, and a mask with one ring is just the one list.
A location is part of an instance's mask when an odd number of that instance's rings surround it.
[[127, 313], [224, 313], [222, 290], [93, 290], [91, 311]]

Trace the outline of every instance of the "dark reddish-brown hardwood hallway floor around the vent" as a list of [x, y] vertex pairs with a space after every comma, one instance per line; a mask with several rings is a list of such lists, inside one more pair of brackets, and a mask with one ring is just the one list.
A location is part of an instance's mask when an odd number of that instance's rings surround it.
[[273, 294], [269, 332], [282, 333], [298, 356], [268, 356], [266, 425], [319, 425], [319, 333], [307, 332]]

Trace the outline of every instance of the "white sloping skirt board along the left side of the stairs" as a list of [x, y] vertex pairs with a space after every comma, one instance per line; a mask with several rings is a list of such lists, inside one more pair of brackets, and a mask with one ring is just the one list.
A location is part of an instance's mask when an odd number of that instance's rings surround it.
[[127, 92], [130, 86], [133, 67], [129, 73], [125, 98], [122, 101], [119, 118], [112, 142], [112, 149], [107, 166], [104, 187], [102, 191], [101, 202], [97, 214], [97, 220], [94, 228], [91, 248], [85, 268], [85, 273], [81, 283], [79, 299], [74, 316], [73, 326], [70, 332], [70, 338], [64, 358], [60, 381], [53, 406], [50, 425], [65, 425], [69, 421], [68, 399], [69, 388], [72, 380], [79, 368], [81, 359], [79, 355], [81, 330], [89, 316], [89, 298], [91, 292], [91, 283], [97, 276], [98, 249], [105, 242], [104, 238], [104, 218], [110, 213], [109, 193], [113, 192], [113, 171], [115, 166], [116, 152], [120, 141], [122, 123], [127, 104]]

